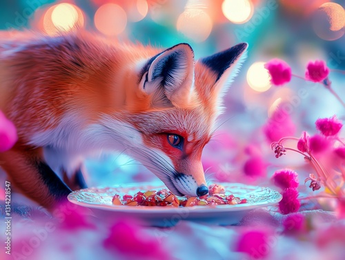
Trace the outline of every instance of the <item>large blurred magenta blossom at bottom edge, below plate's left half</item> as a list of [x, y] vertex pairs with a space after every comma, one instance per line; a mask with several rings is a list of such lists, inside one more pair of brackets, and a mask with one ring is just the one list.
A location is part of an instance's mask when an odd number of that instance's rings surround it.
[[125, 254], [127, 259], [139, 259], [143, 256], [145, 259], [171, 259], [161, 248], [162, 244], [145, 234], [135, 221], [128, 219], [117, 221], [103, 241], [104, 248]]

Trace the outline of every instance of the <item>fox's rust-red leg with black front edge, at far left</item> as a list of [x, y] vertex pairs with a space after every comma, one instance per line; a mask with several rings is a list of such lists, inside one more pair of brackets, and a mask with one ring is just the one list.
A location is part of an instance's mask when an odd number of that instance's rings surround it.
[[41, 149], [12, 148], [0, 153], [0, 166], [13, 186], [48, 209], [66, 200], [71, 192], [43, 160]]

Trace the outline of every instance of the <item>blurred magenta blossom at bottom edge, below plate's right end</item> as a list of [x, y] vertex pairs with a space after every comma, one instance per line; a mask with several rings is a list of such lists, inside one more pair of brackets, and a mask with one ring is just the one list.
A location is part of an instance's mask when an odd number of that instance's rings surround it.
[[250, 259], [264, 259], [270, 253], [270, 232], [267, 230], [245, 230], [237, 242], [237, 252], [244, 252]]

